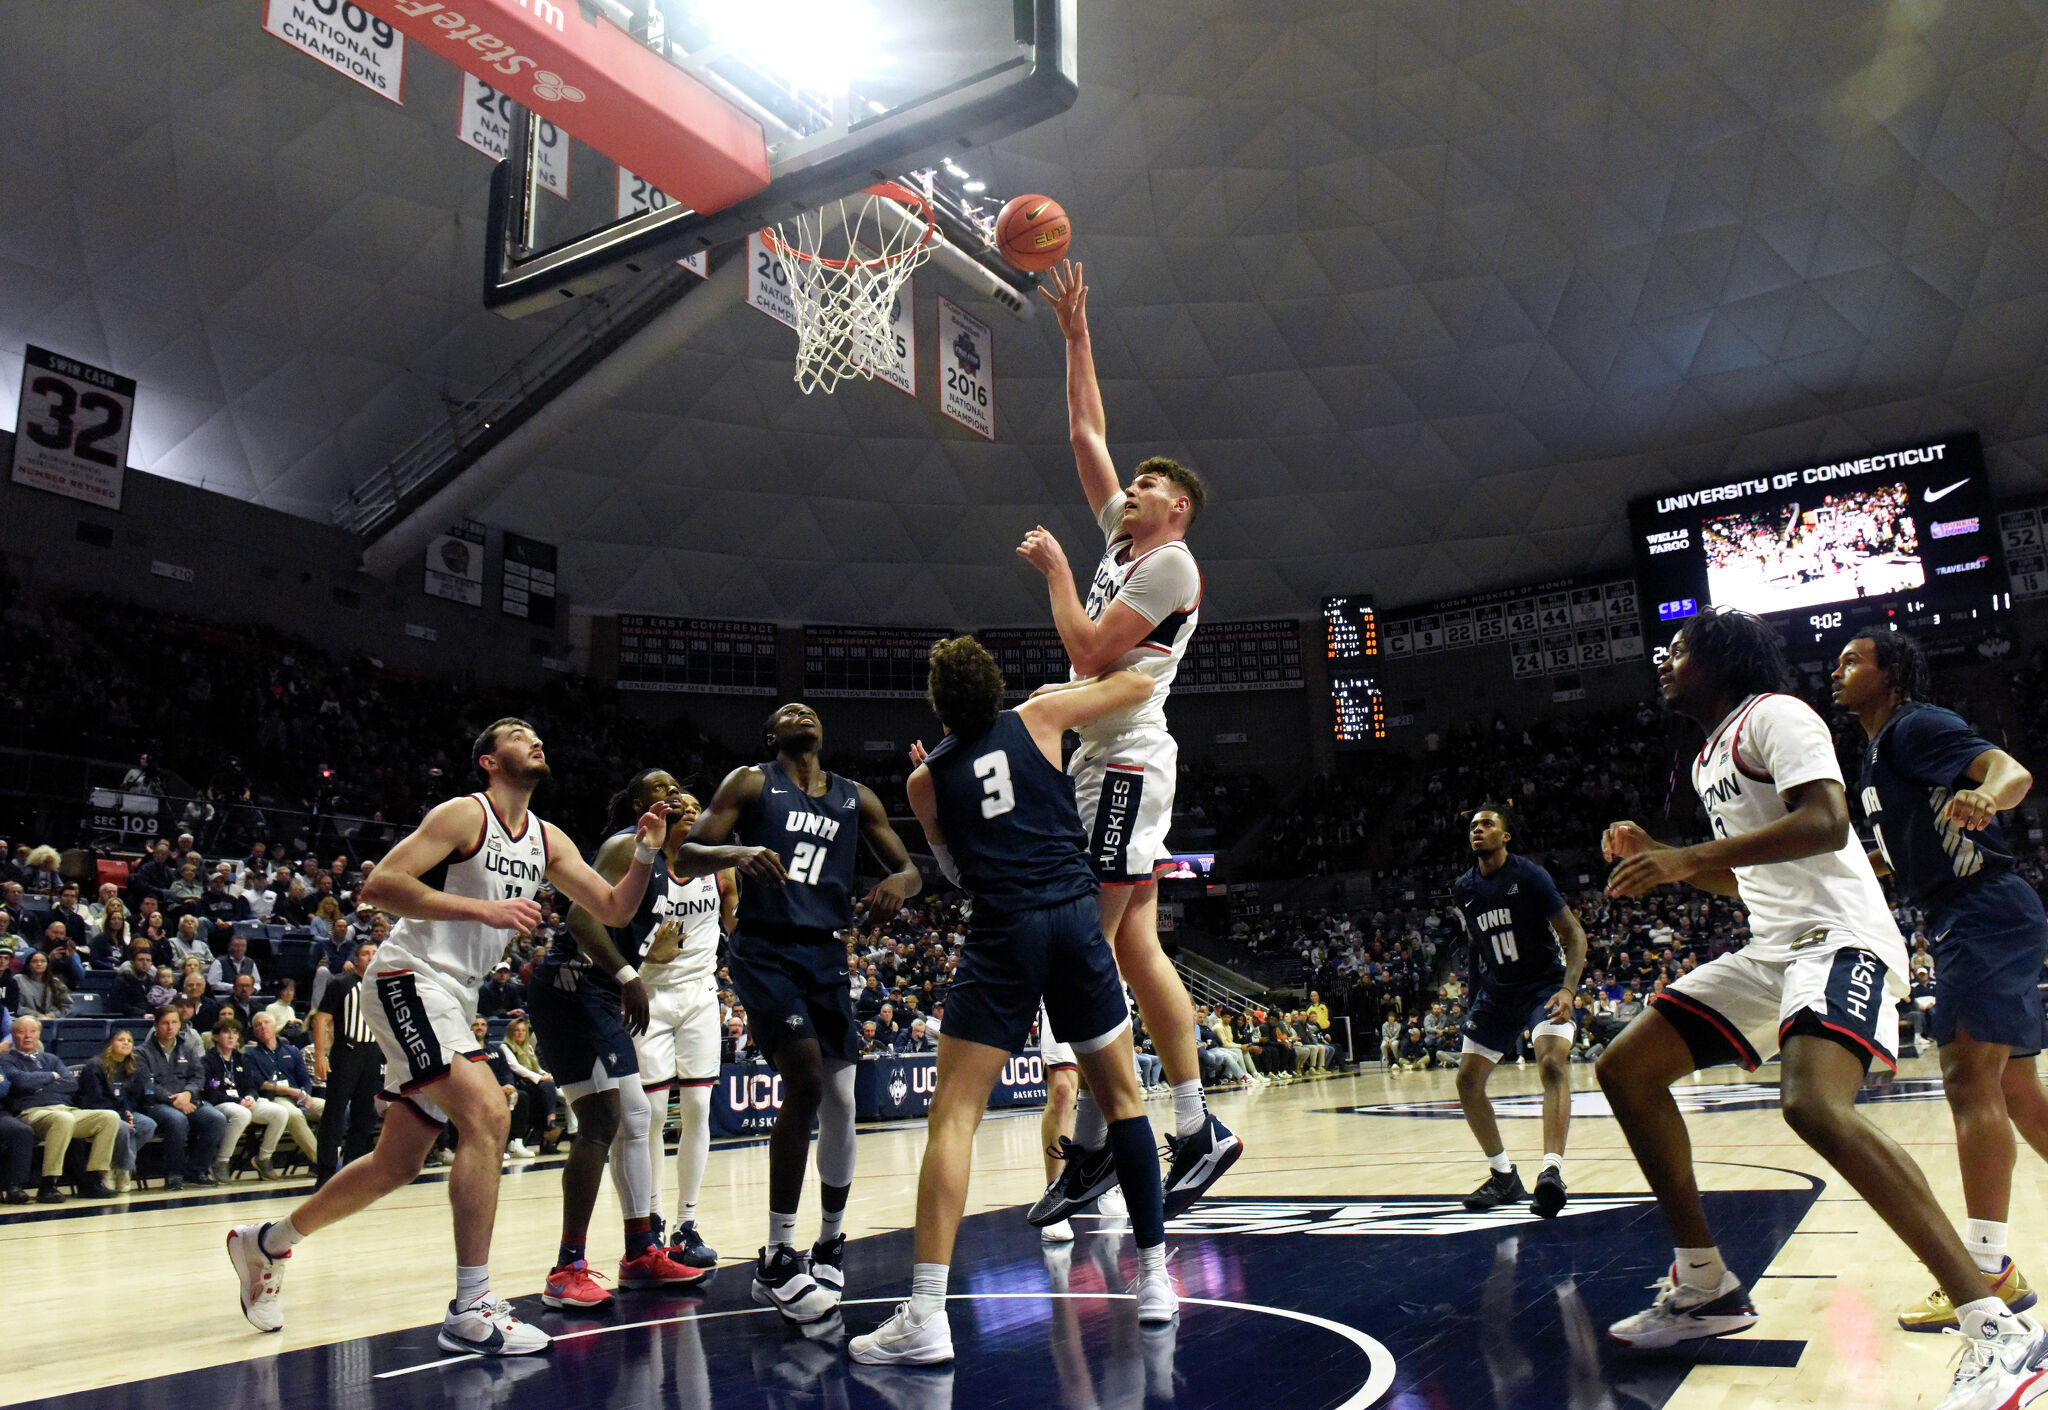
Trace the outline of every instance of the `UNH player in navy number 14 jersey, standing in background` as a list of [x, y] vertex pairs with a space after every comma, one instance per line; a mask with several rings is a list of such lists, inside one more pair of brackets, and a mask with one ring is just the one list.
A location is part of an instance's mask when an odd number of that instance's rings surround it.
[[1550, 873], [1507, 851], [1513, 822], [1501, 803], [1473, 814], [1473, 869], [1450, 883], [1464, 939], [1473, 947], [1473, 1010], [1458, 1058], [1458, 1105], [1487, 1156], [1487, 1183], [1466, 1209], [1530, 1199], [1507, 1160], [1487, 1098], [1487, 1076], [1534, 1025], [1542, 1070], [1542, 1174], [1530, 1205], [1546, 1219], [1565, 1207], [1565, 1133], [1571, 1129], [1571, 996], [1585, 971], [1585, 926], [1559, 896]]

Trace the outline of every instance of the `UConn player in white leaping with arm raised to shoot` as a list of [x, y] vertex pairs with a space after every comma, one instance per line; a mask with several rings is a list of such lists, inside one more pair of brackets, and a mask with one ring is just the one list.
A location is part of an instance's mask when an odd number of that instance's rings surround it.
[[[1186, 537], [1206, 492], [1200, 475], [1163, 455], [1139, 463], [1130, 484], [1118, 486], [1087, 338], [1081, 266], [1061, 262], [1047, 299], [1067, 338], [1073, 463], [1108, 543], [1085, 603], [1075, 590], [1067, 553], [1042, 527], [1024, 535], [1018, 555], [1044, 574], [1053, 623], [1073, 664], [1069, 685], [1128, 668], [1151, 676], [1155, 687], [1143, 703], [1081, 730], [1069, 775], [1087, 830], [1090, 865], [1102, 883], [1102, 932], [1116, 949], [1116, 965], [1139, 1000], [1145, 1029], [1174, 1084], [1174, 1135], [1167, 1137], [1174, 1162], [1165, 1183], [1165, 1213], [1171, 1219], [1243, 1152], [1243, 1142], [1202, 1101], [1194, 1004], [1159, 947], [1159, 889], [1153, 883], [1153, 867], [1165, 857], [1165, 832], [1174, 820], [1178, 758], [1174, 736], [1165, 730], [1165, 693], [1188, 654], [1202, 605], [1202, 572]], [[1061, 1219], [1079, 1207], [1073, 1191], [1096, 1183], [1092, 1176], [1100, 1176], [1108, 1162], [1106, 1142], [1102, 1111], [1083, 1092], [1075, 1109], [1075, 1144], [1087, 1156], [1069, 1162], [1061, 1176], [1069, 1189], [1065, 1195], [1049, 1189], [1032, 1211], [1034, 1224]]]

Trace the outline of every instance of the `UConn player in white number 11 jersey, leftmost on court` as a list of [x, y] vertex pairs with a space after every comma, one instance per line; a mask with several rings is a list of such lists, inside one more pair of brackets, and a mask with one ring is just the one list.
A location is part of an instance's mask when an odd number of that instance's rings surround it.
[[442, 1127], [453, 1123], [461, 1135], [449, 1172], [457, 1269], [438, 1342], [483, 1357], [549, 1346], [545, 1332], [489, 1295], [510, 1111], [469, 1031], [477, 986], [514, 935], [541, 924], [535, 894], [543, 879], [606, 924], [631, 920], [668, 830], [668, 805], [655, 803], [639, 820], [635, 861], [610, 883], [584, 863], [561, 828], [528, 812], [532, 791], [547, 779], [532, 725], [489, 723], [471, 758], [485, 789], [432, 807], [362, 883], [365, 904], [401, 916], [362, 978], [365, 1019], [385, 1053], [389, 1098], [377, 1148], [342, 1166], [291, 1215], [244, 1224], [227, 1236], [242, 1314], [258, 1330], [276, 1332], [285, 1324], [279, 1291], [293, 1244], [410, 1185]]

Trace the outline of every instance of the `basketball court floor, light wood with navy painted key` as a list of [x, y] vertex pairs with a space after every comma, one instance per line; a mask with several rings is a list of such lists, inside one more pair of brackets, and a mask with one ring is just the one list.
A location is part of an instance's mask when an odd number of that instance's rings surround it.
[[[1925, 1271], [1786, 1129], [1776, 1070], [1724, 1070], [1681, 1086], [1686, 1119], [1733, 1267], [1755, 1279], [1755, 1330], [1692, 1351], [1632, 1355], [1606, 1342], [1669, 1260], [1634, 1160], [1573, 1068], [1571, 1203], [1556, 1221], [1458, 1205], [1483, 1176], [1452, 1074], [1376, 1072], [1212, 1096], [1249, 1152], [1167, 1230], [1184, 1291], [1178, 1328], [1139, 1328], [1120, 1219], [1075, 1221], [1049, 1252], [1024, 1226], [1042, 1183], [1036, 1113], [993, 1117], [975, 1154], [954, 1258], [952, 1369], [854, 1367], [844, 1336], [905, 1295], [922, 1127], [860, 1137], [848, 1205], [846, 1310], [821, 1334], [782, 1328], [748, 1301], [766, 1209], [764, 1146], [713, 1152], [700, 1224], [721, 1267], [700, 1297], [621, 1293], [614, 1310], [563, 1316], [539, 1289], [555, 1248], [555, 1162], [508, 1164], [494, 1279], [522, 1318], [557, 1336], [545, 1359], [479, 1363], [434, 1349], [451, 1262], [442, 1183], [428, 1176], [309, 1240], [285, 1283], [285, 1330], [252, 1332], [221, 1254], [229, 1224], [279, 1217], [289, 1197], [150, 1195], [125, 1211], [10, 1215], [0, 1248], [39, 1293], [8, 1342], [8, 1404], [66, 1410], [559, 1404], [750, 1406], [1597, 1406], [1931, 1404], [1952, 1338], [1901, 1332]], [[1538, 1154], [1534, 1068], [1493, 1082], [1507, 1150]], [[1960, 1207], [1954, 1135], [1931, 1060], [1909, 1060], [1872, 1117]], [[1153, 1111], [1157, 1119], [1163, 1109]], [[2040, 1180], [2021, 1156], [2015, 1250], [2030, 1262]], [[807, 1195], [799, 1232], [817, 1217]], [[592, 1262], [616, 1242], [610, 1193]], [[147, 1252], [139, 1252], [147, 1250]], [[612, 1250], [616, 1256], [616, 1250]]]

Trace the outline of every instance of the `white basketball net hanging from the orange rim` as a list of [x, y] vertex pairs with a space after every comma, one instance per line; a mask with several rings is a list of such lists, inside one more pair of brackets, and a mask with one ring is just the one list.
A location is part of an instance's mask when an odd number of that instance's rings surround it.
[[926, 197], [897, 182], [762, 232], [797, 305], [797, 387], [831, 391], [897, 361], [897, 295], [940, 236]]

